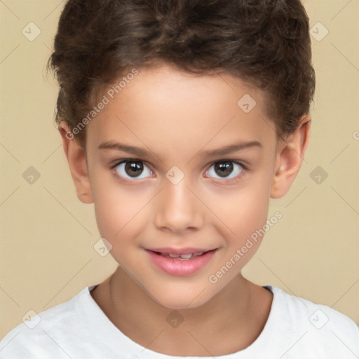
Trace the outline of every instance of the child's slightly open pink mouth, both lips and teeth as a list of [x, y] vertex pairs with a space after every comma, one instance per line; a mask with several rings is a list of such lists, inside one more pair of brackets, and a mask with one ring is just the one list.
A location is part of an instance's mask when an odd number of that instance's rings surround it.
[[172, 248], [145, 249], [151, 262], [161, 271], [172, 276], [190, 276], [202, 269], [215, 255], [213, 250], [188, 248], [174, 250]]

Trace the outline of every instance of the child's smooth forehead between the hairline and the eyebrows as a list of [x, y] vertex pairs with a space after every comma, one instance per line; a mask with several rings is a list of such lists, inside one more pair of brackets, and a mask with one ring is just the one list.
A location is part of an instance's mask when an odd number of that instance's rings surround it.
[[138, 68], [135, 76], [125, 74], [102, 88], [99, 99], [104, 97], [107, 104], [89, 126], [90, 143], [121, 138], [179, 149], [184, 143], [203, 147], [275, 137], [263, 93], [229, 74]]

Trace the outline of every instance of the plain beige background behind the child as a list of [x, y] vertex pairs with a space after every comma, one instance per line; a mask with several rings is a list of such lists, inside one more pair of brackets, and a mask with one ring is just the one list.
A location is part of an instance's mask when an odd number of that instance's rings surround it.
[[[57, 87], [45, 66], [63, 5], [0, 2], [0, 337], [30, 309], [39, 313], [65, 302], [116, 267], [93, 248], [100, 238], [93, 205], [76, 198], [53, 123]], [[320, 41], [312, 38], [311, 141], [288, 194], [271, 200], [269, 217], [280, 211], [283, 218], [243, 273], [359, 323], [359, 1], [304, 5], [316, 36], [325, 34], [317, 22], [329, 30]], [[22, 34], [29, 22], [41, 30], [34, 41]], [[40, 174], [32, 184], [23, 177], [30, 166]], [[328, 175], [319, 184], [311, 178], [317, 166]]]

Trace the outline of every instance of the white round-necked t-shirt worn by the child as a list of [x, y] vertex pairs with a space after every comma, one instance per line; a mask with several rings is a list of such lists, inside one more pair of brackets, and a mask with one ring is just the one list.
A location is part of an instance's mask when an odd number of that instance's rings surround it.
[[[94, 287], [84, 288], [69, 301], [13, 328], [0, 342], [0, 358], [213, 358], [165, 355], [137, 344], [118, 330], [97, 306], [90, 295]], [[359, 328], [351, 318], [329, 306], [294, 297], [278, 287], [264, 287], [273, 292], [273, 302], [259, 337], [241, 351], [216, 358], [359, 358]]]

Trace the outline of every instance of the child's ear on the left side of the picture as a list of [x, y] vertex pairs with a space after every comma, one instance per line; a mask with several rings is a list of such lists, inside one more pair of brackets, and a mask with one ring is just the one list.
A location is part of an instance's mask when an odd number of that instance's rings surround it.
[[88, 177], [88, 166], [86, 163], [86, 152], [76, 144], [74, 135], [65, 121], [62, 121], [58, 130], [60, 131], [62, 147], [65, 151], [69, 169], [74, 180], [76, 194], [83, 203], [93, 203], [93, 196]]

